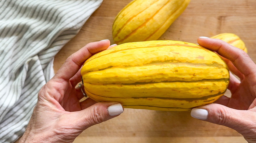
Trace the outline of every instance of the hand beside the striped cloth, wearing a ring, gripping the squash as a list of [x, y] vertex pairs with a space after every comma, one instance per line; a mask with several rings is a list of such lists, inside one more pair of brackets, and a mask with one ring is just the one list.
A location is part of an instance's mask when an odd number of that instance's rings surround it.
[[75, 86], [81, 81], [80, 68], [86, 59], [109, 47], [109, 40], [92, 42], [72, 54], [38, 93], [28, 127], [20, 142], [73, 142], [88, 127], [117, 117], [118, 103], [97, 103], [84, 97]]

